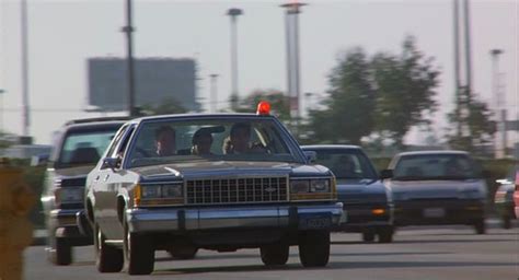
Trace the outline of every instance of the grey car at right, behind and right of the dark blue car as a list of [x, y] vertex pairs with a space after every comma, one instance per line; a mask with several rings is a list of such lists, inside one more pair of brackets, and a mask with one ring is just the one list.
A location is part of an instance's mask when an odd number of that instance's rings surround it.
[[485, 233], [487, 188], [469, 153], [400, 153], [382, 177], [392, 190], [396, 226], [468, 224]]

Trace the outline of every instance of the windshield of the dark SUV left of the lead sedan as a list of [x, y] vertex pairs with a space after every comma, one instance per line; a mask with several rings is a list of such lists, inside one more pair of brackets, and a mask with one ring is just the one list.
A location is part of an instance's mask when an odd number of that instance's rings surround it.
[[119, 127], [69, 131], [59, 152], [56, 168], [95, 164]]

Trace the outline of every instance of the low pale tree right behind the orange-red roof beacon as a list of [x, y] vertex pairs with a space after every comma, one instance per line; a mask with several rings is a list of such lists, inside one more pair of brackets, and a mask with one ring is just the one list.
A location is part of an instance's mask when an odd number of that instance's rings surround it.
[[245, 98], [239, 102], [235, 112], [239, 113], [255, 113], [257, 104], [261, 101], [270, 103], [270, 112], [281, 121], [290, 119], [290, 107], [288, 96], [278, 90], [255, 90]]

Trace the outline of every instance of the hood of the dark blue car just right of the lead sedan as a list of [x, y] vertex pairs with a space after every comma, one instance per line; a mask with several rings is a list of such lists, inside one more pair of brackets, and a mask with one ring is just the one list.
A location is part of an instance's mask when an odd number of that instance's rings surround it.
[[345, 205], [385, 202], [385, 186], [378, 179], [337, 179], [337, 197]]

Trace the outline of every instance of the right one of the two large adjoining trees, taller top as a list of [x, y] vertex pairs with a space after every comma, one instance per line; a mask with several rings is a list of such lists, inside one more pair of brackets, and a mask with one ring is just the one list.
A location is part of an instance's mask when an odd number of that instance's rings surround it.
[[403, 147], [411, 127], [430, 121], [426, 115], [436, 110], [434, 90], [440, 72], [431, 58], [416, 49], [412, 36], [404, 39], [401, 56], [380, 52], [371, 69], [377, 92], [376, 131]]

